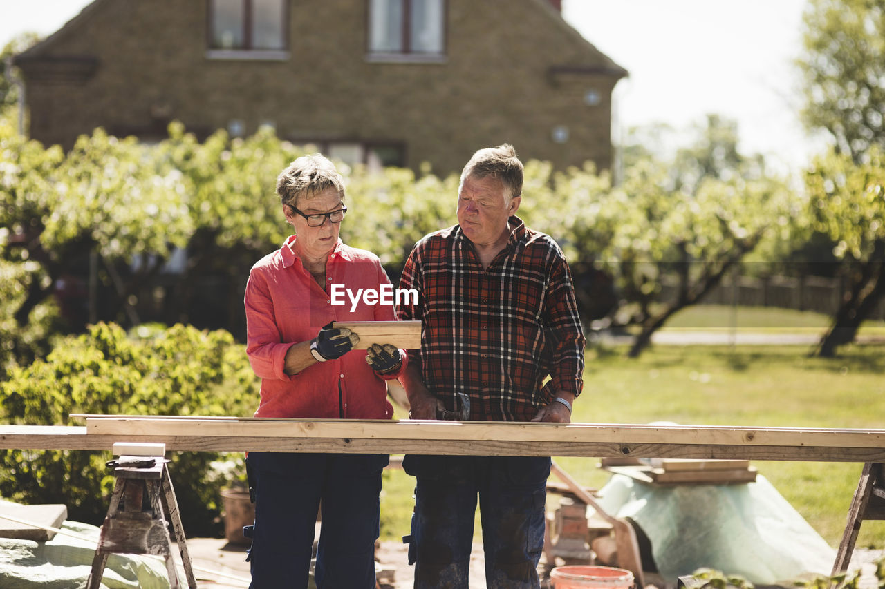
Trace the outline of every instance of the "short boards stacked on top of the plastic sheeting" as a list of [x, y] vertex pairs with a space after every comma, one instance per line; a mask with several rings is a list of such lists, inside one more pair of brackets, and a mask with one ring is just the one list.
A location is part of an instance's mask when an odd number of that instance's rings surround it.
[[756, 480], [749, 460], [653, 459], [625, 464], [603, 459], [600, 466], [652, 485], [730, 485]]

